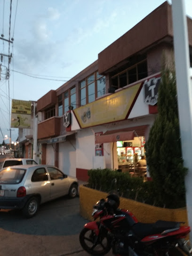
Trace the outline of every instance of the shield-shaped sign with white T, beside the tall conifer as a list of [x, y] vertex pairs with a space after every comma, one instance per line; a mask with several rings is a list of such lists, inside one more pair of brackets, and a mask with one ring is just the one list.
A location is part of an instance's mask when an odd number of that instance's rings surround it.
[[144, 103], [154, 106], [158, 101], [158, 88], [161, 77], [153, 77], [144, 81]]

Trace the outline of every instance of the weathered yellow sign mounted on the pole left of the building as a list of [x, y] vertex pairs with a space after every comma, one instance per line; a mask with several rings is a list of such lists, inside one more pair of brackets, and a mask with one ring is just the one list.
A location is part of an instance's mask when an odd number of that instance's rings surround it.
[[31, 101], [12, 99], [11, 128], [31, 128]]

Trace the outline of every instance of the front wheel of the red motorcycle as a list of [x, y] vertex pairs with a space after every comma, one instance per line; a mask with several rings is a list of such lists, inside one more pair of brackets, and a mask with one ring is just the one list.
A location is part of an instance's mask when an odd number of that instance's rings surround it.
[[107, 234], [97, 236], [93, 230], [87, 228], [80, 232], [80, 244], [91, 255], [102, 256], [111, 250], [111, 239]]

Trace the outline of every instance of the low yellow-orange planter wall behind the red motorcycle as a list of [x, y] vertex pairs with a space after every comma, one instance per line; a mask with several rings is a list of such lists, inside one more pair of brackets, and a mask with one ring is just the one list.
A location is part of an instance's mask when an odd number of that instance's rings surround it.
[[[106, 198], [107, 193], [97, 191], [83, 185], [80, 185], [80, 215], [89, 221], [93, 205], [100, 199]], [[120, 197], [120, 208], [131, 211], [139, 222], [153, 223], [157, 220], [185, 222], [188, 225], [186, 208], [167, 209], [154, 207], [148, 204], [140, 203], [134, 200]]]

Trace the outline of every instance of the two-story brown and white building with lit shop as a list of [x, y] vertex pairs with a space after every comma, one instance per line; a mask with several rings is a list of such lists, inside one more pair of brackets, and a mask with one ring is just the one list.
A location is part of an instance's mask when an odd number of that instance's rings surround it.
[[[192, 20], [187, 17], [190, 60]], [[98, 54], [98, 60], [37, 101], [42, 163], [88, 179], [144, 154], [157, 114], [161, 59], [173, 51], [172, 11], [164, 2]], [[117, 143], [118, 142], [118, 143]]]

